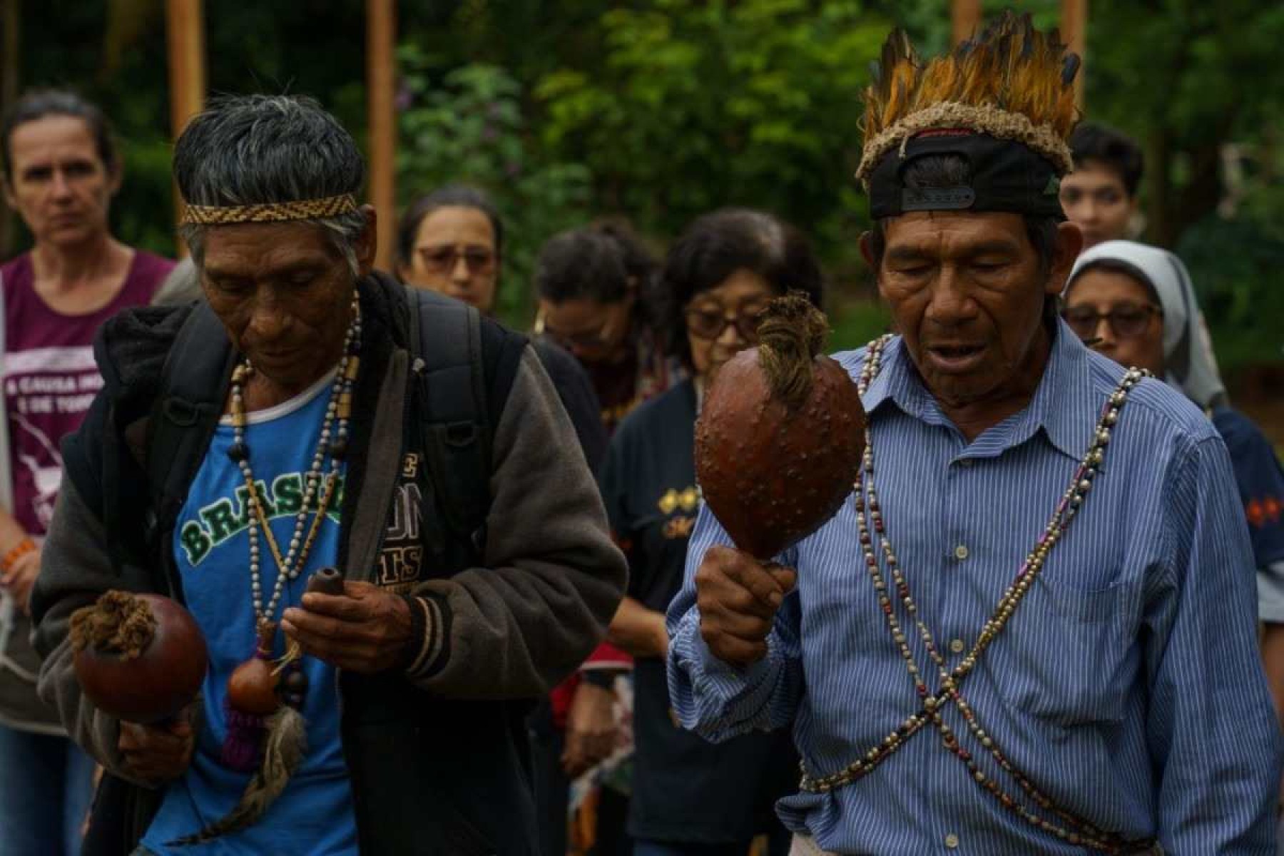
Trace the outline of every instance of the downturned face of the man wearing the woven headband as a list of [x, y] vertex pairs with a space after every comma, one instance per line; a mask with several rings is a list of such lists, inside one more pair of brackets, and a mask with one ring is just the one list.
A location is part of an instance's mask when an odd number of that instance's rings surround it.
[[[374, 261], [374, 218], [357, 243], [362, 276]], [[202, 287], [257, 372], [289, 393], [338, 362], [356, 278], [321, 227], [244, 223], [205, 234]]]

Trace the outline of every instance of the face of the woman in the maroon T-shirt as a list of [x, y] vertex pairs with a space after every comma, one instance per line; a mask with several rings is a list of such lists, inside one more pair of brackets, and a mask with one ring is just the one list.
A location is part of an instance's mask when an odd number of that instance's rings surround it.
[[37, 244], [73, 246], [107, 232], [119, 175], [108, 173], [94, 135], [74, 116], [23, 122], [9, 139], [13, 172], [5, 199]]

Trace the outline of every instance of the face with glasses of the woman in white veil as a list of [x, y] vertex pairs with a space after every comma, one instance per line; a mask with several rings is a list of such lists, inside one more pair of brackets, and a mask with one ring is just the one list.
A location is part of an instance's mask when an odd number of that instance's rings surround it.
[[1066, 322], [1121, 366], [1163, 377], [1163, 312], [1150, 287], [1122, 271], [1089, 268], [1066, 294]]

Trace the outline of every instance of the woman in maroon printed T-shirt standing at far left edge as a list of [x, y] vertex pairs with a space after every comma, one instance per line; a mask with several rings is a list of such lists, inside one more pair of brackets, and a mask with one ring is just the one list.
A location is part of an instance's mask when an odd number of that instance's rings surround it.
[[62, 476], [59, 443], [101, 379], [92, 344], [146, 304], [173, 263], [112, 236], [121, 159], [103, 113], [71, 92], [24, 95], [0, 124], [4, 194], [35, 246], [0, 267], [0, 841], [6, 856], [77, 852], [92, 764], [36, 697], [28, 595]]

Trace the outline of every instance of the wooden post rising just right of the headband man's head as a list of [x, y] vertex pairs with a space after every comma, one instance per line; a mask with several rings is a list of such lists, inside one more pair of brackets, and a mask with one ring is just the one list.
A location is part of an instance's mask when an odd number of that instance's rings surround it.
[[397, 228], [397, 6], [366, 0], [366, 107], [370, 124], [370, 201], [379, 217], [375, 267], [393, 270]]

